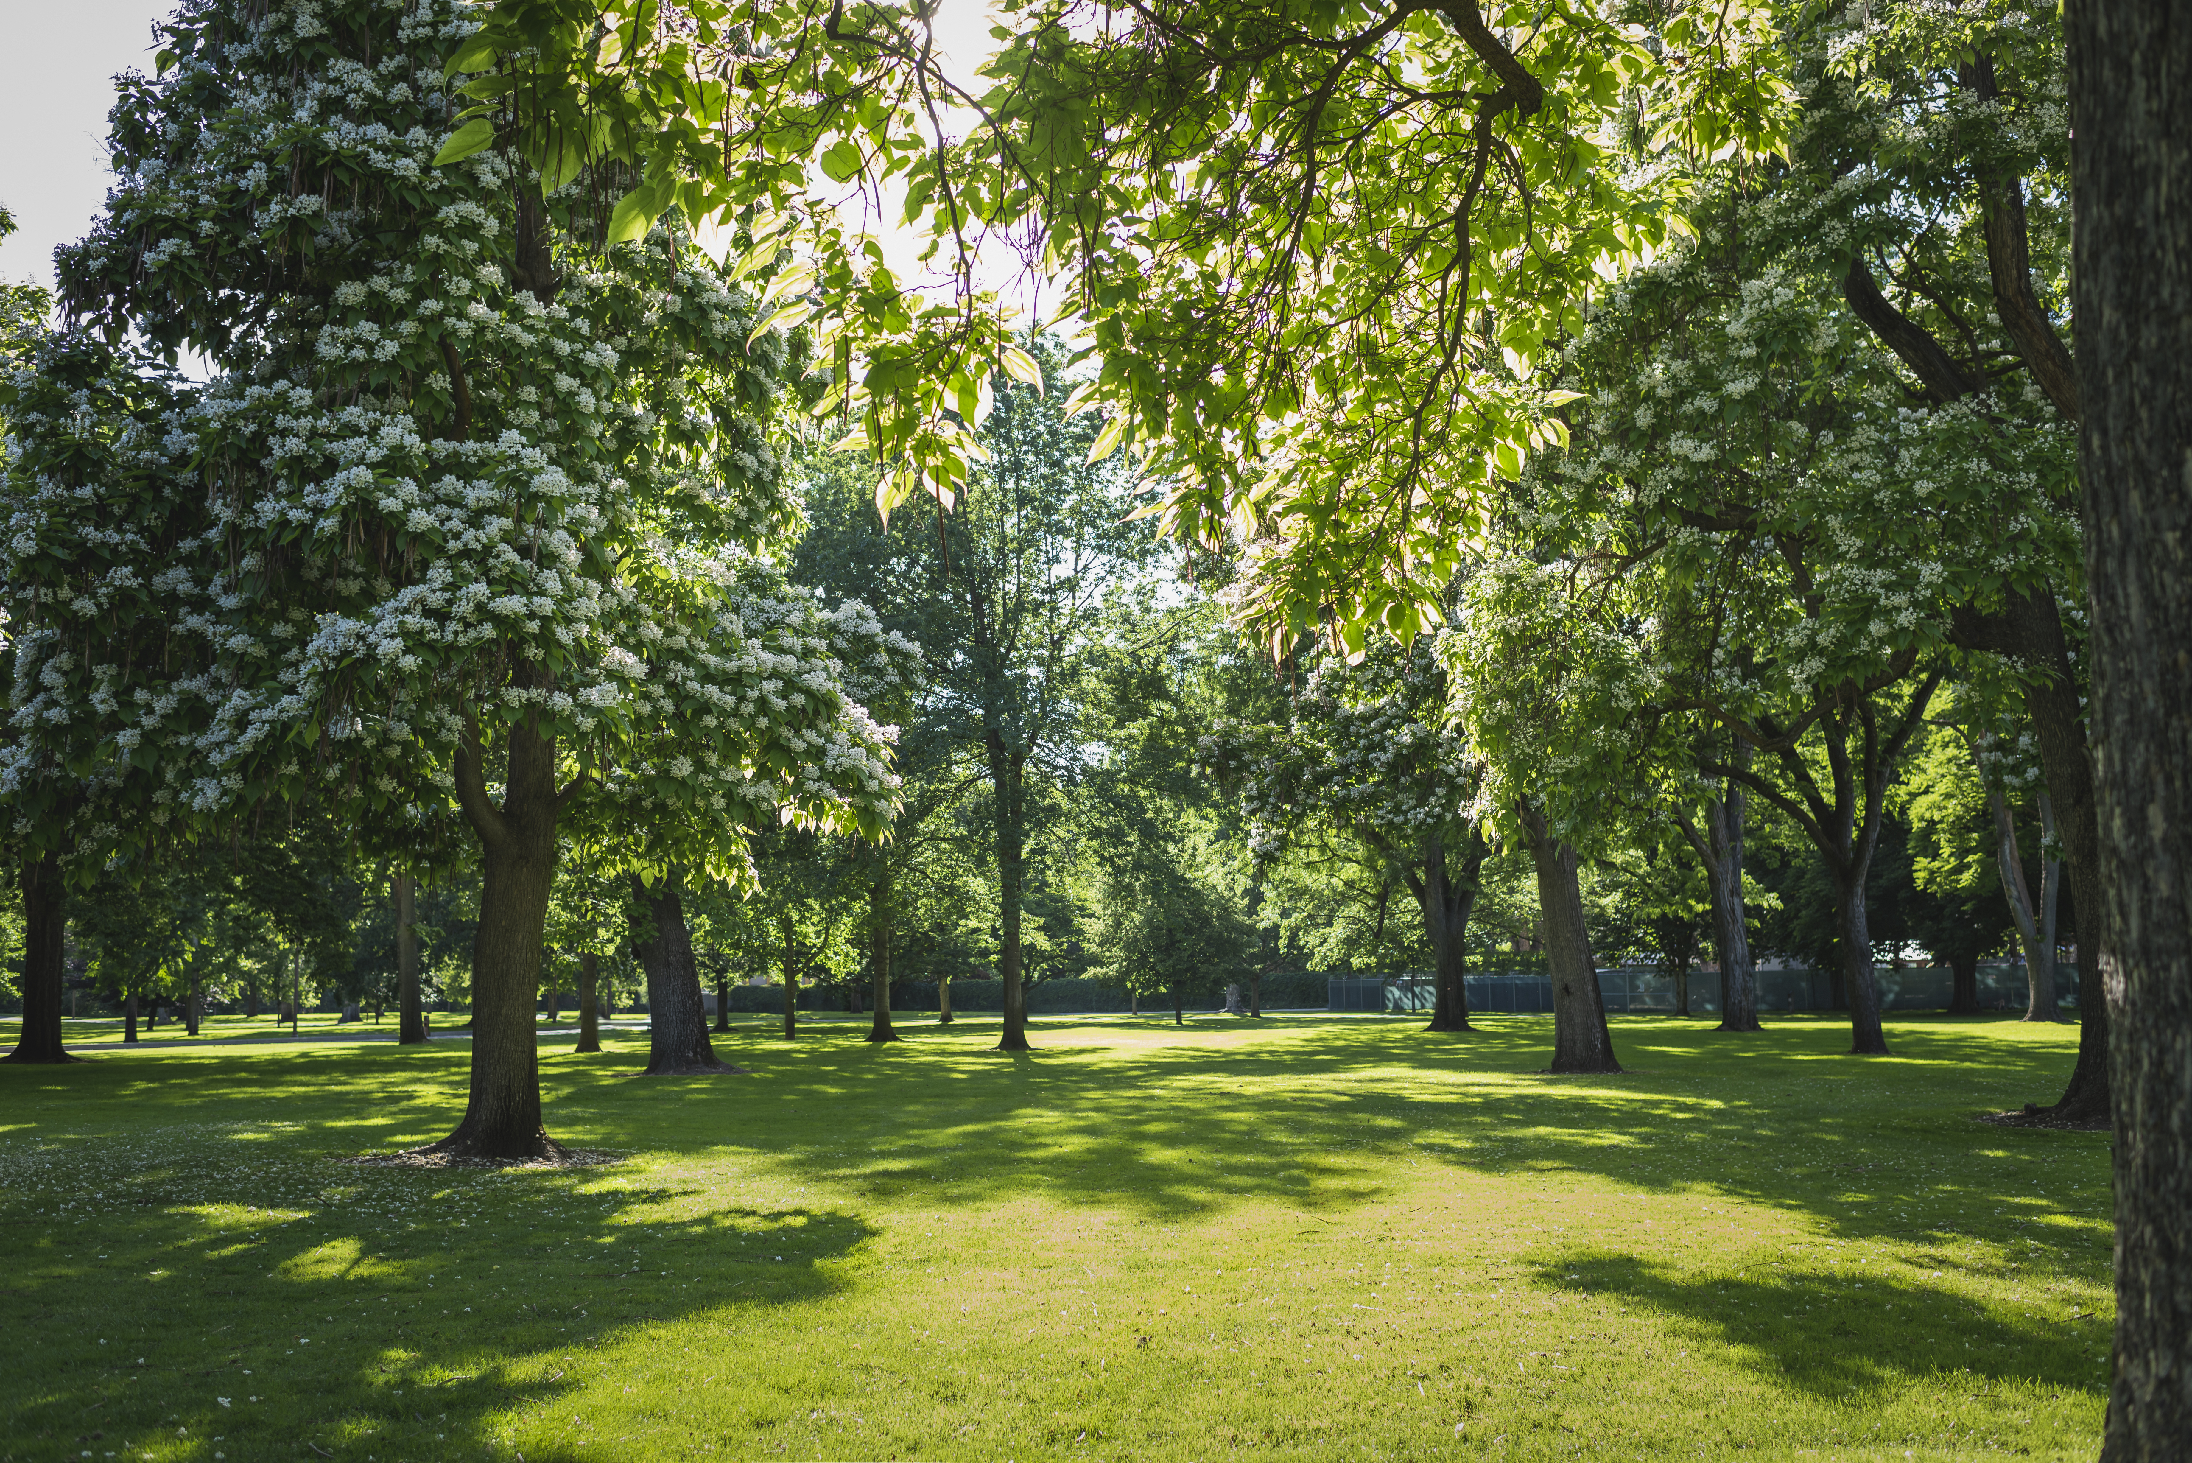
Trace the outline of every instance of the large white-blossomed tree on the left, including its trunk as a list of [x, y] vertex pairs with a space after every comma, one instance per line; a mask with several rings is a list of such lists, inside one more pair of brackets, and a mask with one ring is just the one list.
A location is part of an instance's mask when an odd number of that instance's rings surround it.
[[[533, 994], [559, 825], [625, 818], [653, 860], [743, 877], [745, 827], [879, 836], [892, 774], [824, 616], [756, 557], [794, 520], [767, 441], [794, 342], [682, 233], [603, 246], [614, 178], [493, 147], [436, 169], [473, 26], [447, 0], [199, 0], [125, 83], [64, 303], [219, 375], [92, 412], [127, 423], [125, 476], [11, 472], [7, 572], [44, 616], [11, 772], [81, 741], [178, 833], [454, 801], [482, 897], [441, 1147], [526, 1156], [552, 1152]], [[66, 465], [77, 390], [18, 377], [42, 461]], [[169, 537], [112, 544], [116, 515]], [[96, 654], [107, 601], [160, 610], [158, 658]]]

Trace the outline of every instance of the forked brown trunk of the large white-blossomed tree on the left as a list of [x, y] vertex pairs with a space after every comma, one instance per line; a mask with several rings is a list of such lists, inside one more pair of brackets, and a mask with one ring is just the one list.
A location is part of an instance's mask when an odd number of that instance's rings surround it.
[[465, 1116], [430, 1152], [456, 1158], [561, 1158], [541, 1127], [539, 991], [548, 895], [555, 888], [555, 739], [520, 722], [509, 733], [502, 807], [484, 787], [478, 746], [458, 755], [458, 798], [480, 838], [480, 932], [471, 948], [471, 1084]]

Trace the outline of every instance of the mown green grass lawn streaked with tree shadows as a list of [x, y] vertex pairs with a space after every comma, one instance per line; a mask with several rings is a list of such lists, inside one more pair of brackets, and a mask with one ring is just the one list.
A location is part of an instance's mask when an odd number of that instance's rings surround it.
[[338, 1163], [463, 1040], [0, 1066], [0, 1459], [2098, 1452], [2107, 1136], [1973, 1121], [2074, 1027], [864, 1027], [546, 1044], [576, 1171]]

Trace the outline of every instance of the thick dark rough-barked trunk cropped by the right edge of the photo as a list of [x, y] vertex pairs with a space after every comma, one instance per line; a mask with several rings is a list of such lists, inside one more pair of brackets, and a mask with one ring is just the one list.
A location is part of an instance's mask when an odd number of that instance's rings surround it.
[[2107, 904], [2074, 897], [2080, 1009], [2107, 1000], [2115, 1097], [2102, 1459], [2148, 1463], [2192, 1439], [2192, 24], [2172, 0], [2069, 0], [2065, 33]]

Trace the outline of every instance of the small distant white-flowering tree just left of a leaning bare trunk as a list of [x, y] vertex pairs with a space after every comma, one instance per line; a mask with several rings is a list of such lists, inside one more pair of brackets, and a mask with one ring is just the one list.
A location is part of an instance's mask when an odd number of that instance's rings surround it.
[[1431, 1031], [1471, 1031], [1464, 937], [1491, 847], [1471, 809], [1477, 752], [1447, 724], [1436, 638], [1320, 651], [1287, 724], [1221, 726], [1201, 755], [1238, 790], [1258, 860], [1322, 825], [1401, 871], [1431, 941]]

